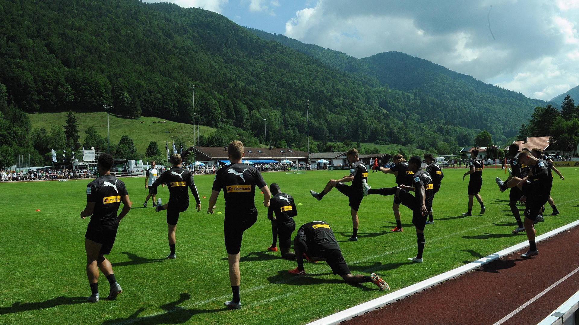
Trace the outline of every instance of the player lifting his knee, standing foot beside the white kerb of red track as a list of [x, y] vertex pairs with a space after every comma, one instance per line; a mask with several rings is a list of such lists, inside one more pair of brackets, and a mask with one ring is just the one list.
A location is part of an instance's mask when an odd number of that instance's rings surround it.
[[[525, 178], [512, 177], [507, 186], [512, 187], [512, 184], [516, 184], [515, 186], [521, 189], [523, 194], [521, 202], [525, 202], [525, 229], [527, 239], [529, 239], [529, 251], [521, 257], [528, 258], [539, 253], [533, 225], [541, 219], [540, 213], [543, 205], [547, 203], [551, 194], [553, 176], [548, 163], [543, 159], [535, 158], [529, 151], [523, 150], [519, 154], [519, 161], [530, 167], [529, 175]], [[503, 184], [499, 184], [501, 185]]]

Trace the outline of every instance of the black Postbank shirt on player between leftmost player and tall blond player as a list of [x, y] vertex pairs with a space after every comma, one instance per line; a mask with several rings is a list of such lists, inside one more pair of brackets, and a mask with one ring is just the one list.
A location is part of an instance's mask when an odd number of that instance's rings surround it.
[[195, 187], [195, 181], [193, 181], [193, 174], [189, 170], [183, 167], [171, 167], [171, 169], [161, 174], [151, 186], [156, 188], [163, 183], [167, 184], [169, 188], [169, 204], [189, 204], [188, 188], [191, 190], [193, 197], [195, 197], [195, 202], [197, 204], [201, 203], [197, 187]]

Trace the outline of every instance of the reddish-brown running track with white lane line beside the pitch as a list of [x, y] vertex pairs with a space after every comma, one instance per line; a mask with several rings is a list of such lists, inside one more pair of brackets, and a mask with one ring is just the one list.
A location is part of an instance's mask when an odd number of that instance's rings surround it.
[[518, 309], [503, 324], [537, 324], [579, 291], [579, 227], [537, 249], [528, 260], [518, 251], [342, 324], [495, 324]]

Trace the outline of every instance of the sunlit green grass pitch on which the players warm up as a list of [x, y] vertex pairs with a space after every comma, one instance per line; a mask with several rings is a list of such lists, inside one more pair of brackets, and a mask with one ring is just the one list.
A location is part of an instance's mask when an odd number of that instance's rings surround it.
[[[296, 203], [302, 203], [295, 217], [297, 227], [313, 220], [329, 222], [353, 273], [376, 272], [392, 290], [399, 290], [526, 240], [525, 233], [511, 234], [516, 224], [508, 209], [508, 192], [499, 192], [494, 183], [496, 176], [506, 178], [501, 169], [483, 172], [481, 195], [486, 214], [478, 215], [475, 201], [475, 216], [461, 216], [467, 209], [468, 179], [461, 180], [464, 171], [444, 170], [442, 189], [434, 200], [435, 224], [424, 231], [422, 264], [406, 261], [416, 254], [411, 211], [401, 207], [404, 232], [390, 232], [395, 225], [391, 196], [372, 195], [362, 201], [360, 241], [348, 242], [351, 218], [347, 198], [335, 190], [321, 202], [309, 195], [310, 189], [321, 191], [327, 180], [340, 178], [346, 171], [265, 173], [263, 177], [268, 184], [277, 182]], [[579, 171], [561, 171], [566, 179], [555, 178], [551, 192], [561, 214], [546, 216], [545, 222], [537, 225], [537, 235], [577, 220], [575, 180]], [[108, 255], [123, 293], [116, 301], [98, 304], [85, 303], [90, 289], [83, 237], [89, 220], [81, 220], [79, 212], [85, 206], [89, 180], [0, 184], [0, 323], [298, 324], [385, 294], [372, 283], [353, 286], [343, 282], [324, 262], [306, 263], [309, 275], [305, 277], [288, 274], [295, 262], [266, 251], [271, 227], [258, 194], [258, 221], [244, 233], [241, 246], [243, 309], [225, 310], [223, 301], [231, 298], [223, 244], [225, 215], [206, 214], [212, 180], [210, 175], [195, 177], [201, 196], [206, 196], [201, 199], [202, 210], [196, 213], [191, 206], [181, 214], [177, 260], [164, 260], [168, 254], [165, 213], [155, 213], [151, 201], [148, 208], [142, 207], [144, 178], [123, 178], [133, 210], [120, 223]], [[369, 184], [391, 187], [394, 177], [370, 173]], [[166, 201], [167, 188], [159, 188], [159, 196]], [[223, 204], [221, 193], [215, 211], [223, 211]], [[551, 207], [547, 207], [550, 213]], [[99, 284], [101, 297], [106, 297], [108, 282], [102, 275]]]

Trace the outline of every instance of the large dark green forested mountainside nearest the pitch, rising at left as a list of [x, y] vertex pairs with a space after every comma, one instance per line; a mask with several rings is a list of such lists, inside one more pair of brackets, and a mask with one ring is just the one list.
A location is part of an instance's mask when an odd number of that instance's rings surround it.
[[[196, 85], [201, 124], [220, 132], [212, 145], [236, 137], [255, 144], [267, 119], [268, 143], [306, 148], [306, 100], [313, 151], [317, 143], [351, 140], [446, 154], [471, 145], [483, 128], [496, 141], [511, 136], [506, 122], [485, 124], [494, 120], [476, 108], [489, 101], [440, 98], [431, 84], [420, 92], [391, 90], [389, 79], [369, 72], [389, 63], [323, 59], [325, 49], [301, 53], [203, 9], [137, 0], [0, 0], [0, 13], [0, 108], [6, 107], [0, 122], [20, 125], [20, 109], [101, 111], [112, 104], [118, 115], [191, 123]], [[512, 108], [497, 101], [489, 109], [501, 107]], [[30, 133], [30, 122], [22, 124]], [[26, 145], [11, 134], [0, 145]]]

